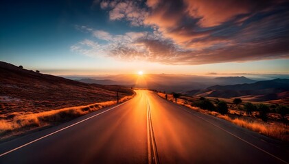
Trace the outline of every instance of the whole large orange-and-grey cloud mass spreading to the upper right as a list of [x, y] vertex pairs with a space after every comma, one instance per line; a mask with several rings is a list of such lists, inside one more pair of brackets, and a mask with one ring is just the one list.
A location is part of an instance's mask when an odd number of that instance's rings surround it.
[[106, 41], [78, 43], [94, 55], [101, 49], [106, 57], [126, 61], [189, 65], [289, 58], [289, 3], [282, 0], [114, 0], [100, 6], [109, 11], [110, 20], [151, 30], [112, 35], [79, 27]]

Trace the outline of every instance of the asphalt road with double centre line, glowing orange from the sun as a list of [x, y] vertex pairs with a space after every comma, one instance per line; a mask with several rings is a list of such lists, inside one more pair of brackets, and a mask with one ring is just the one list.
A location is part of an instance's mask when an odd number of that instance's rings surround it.
[[288, 145], [136, 91], [128, 102], [0, 144], [0, 163], [288, 163]]

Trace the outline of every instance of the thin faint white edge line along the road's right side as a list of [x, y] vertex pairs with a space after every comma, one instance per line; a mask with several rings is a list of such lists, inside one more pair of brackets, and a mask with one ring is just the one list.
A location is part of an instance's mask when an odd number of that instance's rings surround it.
[[[181, 107], [178, 107], [178, 108], [181, 108]], [[183, 109], [183, 108], [181, 108], [181, 109]], [[192, 113], [192, 112], [190, 112], [190, 111], [187, 111], [186, 109], [183, 109], [183, 110], [186, 111], [187, 113], [191, 113], [192, 115], [195, 115], [194, 113]], [[262, 152], [265, 152], [266, 154], [268, 154], [268, 155], [270, 155], [270, 156], [273, 156], [275, 159], [278, 159], [279, 161], [282, 161], [282, 162], [284, 162], [284, 163], [288, 163], [288, 162], [284, 161], [283, 159], [280, 159], [278, 156], [275, 156], [275, 155], [271, 154], [270, 152], [267, 152], [266, 150], [263, 150], [262, 148], [259, 148], [258, 146], [255, 146], [253, 143], [250, 143], [250, 142], [248, 142], [248, 141], [246, 141], [246, 140], [238, 137], [237, 135], [234, 135], [233, 133], [225, 130], [224, 128], [221, 128], [220, 126], [218, 126], [218, 125], [216, 125], [216, 124], [213, 124], [213, 123], [209, 122], [208, 120], [205, 120], [205, 118], [201, 118], [201, 117], [198, 116], [198, 115], [195, 115], [195, 116], [196, 116], [197, 118], [200, 118], [200, 119], [204, 120], [205, 122], [208, 122], [209, 124], [211, 124], [211, 125], [213, 125], [213, 126], [216, 126], [217, 128], [220, 128], [222, 131], [225, 131], [225, 132], [229, 133], [230, 135], [233, 135], [234, 137], [240, 139], [241, 141], [244, 141], [244, 142], [248, 143], [249, 145], [253, 146], [254, 148], [257, 148], [258, 150], [261, 150]], [[289, 164], [289, 163], [288, 163], [288, 164]]]

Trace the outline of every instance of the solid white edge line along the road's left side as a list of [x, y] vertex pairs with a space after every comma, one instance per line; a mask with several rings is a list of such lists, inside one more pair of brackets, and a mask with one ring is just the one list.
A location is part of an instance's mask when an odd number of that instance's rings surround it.
[[[128, 101], [126, 101], [126, 102], [128, 102]], [[124, 105], [126, 102], [124, 102], [124, 103], [122, 103], [122, 104], [120, 104], [120, 105]], [[106, 111], [111, 111], [112, 109], [115, 109], [116, 107], [119, 107], [120, 105], [117, 105], [117, 106], [115, 106], [115, 107], [112, 107], [111, 109], [107, 109]], [[76, 123], [71, 124], [71, 125], [69, 125], [69, 126], [67, 126], [67, 127], [65, 127], [65, 128], [61, 128], [61, 129], [59, 129], [58, 131], [55, 131], [55, 132], [53, 132], [53, 133], [50, 133], [50, 134], [48, 134], [48, 135], [45, 135], [45, 136], [43, 136], [43, 137], [40, 137], [40, 138], [38, 138], [38, 139], [35, 139], [35, 140], [30, 141], [30, 142], [28, 142], [28, 143], [25, 143], [24, 145], [19, 146], [19, 147], [17, 147], [17, 148], [14, 148], [14, 149], [12, 149], [12, 150], [9, 150], [8, 152], [4, 152], [3, 154], [0, 154], [0, 157], [1, 157], [1, 156], [4, 156], [5, 154], [9, 154], [10, 152], [14, 152], [15, 150], [19, 150], [20, 148], [23, 148], [23, 147], [25, 147], [25, 146], [27, 146], [27, 145], [30, 145], [31, 143], [34, 143], [34, 142], [36, 142], [36, 141], [39, 141], [39, 140], [44, 139], [44, 138], [46, 138], [46, 137], [49, 137], [50, 135], [54, 135], [55, 133], [58, 133], [58, 132], [63, 131], [63, 130], [65, 130], [65, 129], [67, 129], [67, 128], [70, 128], [70, 127], [72, 127], [72, 126], [75, 126], [75, 125], [77, 125], [77, 124], [80, 124], [81, 122], [84, 122], [84, 121], [86, 121], [86, 120], [89, 120], [89, 119], [91, 119], [91, 118], [94, 118], [94, 117], [96, 117], [97, 115], [101, 115], [102, 113], [105, 113], [106, 111], [102, 111], [102, 112], [100, 112], [100, 113], [97, 113], [97, 114], [95, 114], [95, 115], [92, 115], [91, 117], [86, 118], [86, 119], [84, 119], [84, 120], [81, 120], [80, 122], [76, 122]]]

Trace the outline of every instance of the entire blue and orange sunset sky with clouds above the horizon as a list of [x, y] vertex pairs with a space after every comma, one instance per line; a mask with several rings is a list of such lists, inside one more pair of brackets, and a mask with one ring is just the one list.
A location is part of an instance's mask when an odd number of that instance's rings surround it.
[[2, 0], [0, 22], [0, 60], [49, 74], [289, 74], [289, 1]]

